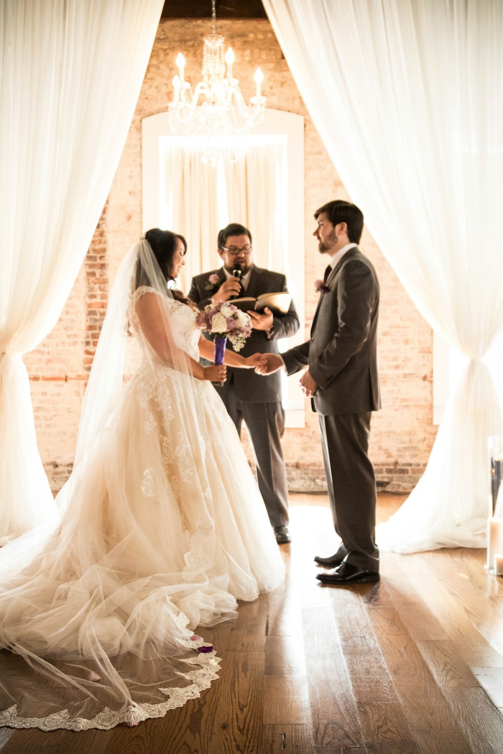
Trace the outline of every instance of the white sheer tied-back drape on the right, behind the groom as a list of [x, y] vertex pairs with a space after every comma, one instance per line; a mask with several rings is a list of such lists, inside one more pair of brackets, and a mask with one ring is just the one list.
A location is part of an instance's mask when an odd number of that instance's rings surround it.
[[481, 359], [503, 326], [503, 3], [264, 5], [376, 242], [422, 315], [469, 360], [425, 474], [379, 544], [482, 547], [487, 436], [501, 430]]

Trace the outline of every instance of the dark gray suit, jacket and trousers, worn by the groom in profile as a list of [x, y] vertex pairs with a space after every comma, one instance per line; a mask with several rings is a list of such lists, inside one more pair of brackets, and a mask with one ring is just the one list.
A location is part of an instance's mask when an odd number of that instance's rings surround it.
[[338, 554], [352, 566], [379, 572], [375, 543], [376, 476], [368, 456], [371, 412], [381, 407], [377, 363], [379, 280], [358, 247], [327, 279], [311, 339], [282, 354], [288, 374], [308, 366], [317, 383], [319, 414]]

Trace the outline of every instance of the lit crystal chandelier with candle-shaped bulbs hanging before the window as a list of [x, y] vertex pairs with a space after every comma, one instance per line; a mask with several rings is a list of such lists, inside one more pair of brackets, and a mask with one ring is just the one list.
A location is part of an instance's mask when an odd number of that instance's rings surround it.
[[[253, 76], [255, 96], [248, 105], [245, 103], [239, 81], [232, 75], [235, 55], [230, 47], [224, 55], [224, 38], [215, 32], [215, 0], [211, 2], [211, 16], [212, 32], [204, 37], [202, 81], [192, 89], [184, 78], [185, 58], [179, 53], [168, 113], [173, 133], [201, 137], [204, 152], [214, 162], [215, 143], [221, 143], [222, 137], [246, 136], [263, 120], [266, 98], [261, 93], [264, 77], [257, 68]], [[244, 151], [246, 146], [240, 149]]]

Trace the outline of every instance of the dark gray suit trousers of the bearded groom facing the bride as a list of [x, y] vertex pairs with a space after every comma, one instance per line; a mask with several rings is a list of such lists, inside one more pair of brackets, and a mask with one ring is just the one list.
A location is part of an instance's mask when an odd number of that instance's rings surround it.
[[368, 455], [371, 416], [318, 418], [333, 525], [342, 539], [337, 554], [351, 566], [379, 572], [376, 474]]

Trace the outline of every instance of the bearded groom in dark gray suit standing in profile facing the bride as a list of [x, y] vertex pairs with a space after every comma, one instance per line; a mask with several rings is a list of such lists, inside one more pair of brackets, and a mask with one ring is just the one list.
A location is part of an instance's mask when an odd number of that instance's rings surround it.
[[284, 354], [265, 354], [262, 374], [284, 366], [300, 379], [318, 413], [337, 552], [316, 556], [333, 570], [317, 575], [334, 586], [379, 581], [375, 542], [376, 475], [368, 455], [370, 418], [381, 407], [377, 366], [379, 280], [357, 244], [363, 214], [347, 201], [330, 201], [314, 218], [318, 250], [328, 257], [311, 338]]

